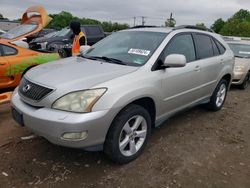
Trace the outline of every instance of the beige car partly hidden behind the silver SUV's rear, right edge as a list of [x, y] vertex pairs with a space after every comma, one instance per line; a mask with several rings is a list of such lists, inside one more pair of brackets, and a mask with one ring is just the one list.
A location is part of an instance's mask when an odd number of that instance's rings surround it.
[[232, 84], [246, 89], [250, 79], [250, 38], [224, 37], [235, 55]]

